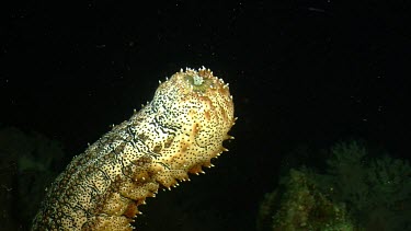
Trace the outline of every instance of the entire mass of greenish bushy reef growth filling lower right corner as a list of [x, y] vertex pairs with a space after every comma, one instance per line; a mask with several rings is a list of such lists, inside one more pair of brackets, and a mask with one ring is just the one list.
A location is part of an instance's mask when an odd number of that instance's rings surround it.
[[264, 196], [258, 230], [411, 230], [411, 166], [356, 141], [329, 151], [326, 170], [289, 169]]

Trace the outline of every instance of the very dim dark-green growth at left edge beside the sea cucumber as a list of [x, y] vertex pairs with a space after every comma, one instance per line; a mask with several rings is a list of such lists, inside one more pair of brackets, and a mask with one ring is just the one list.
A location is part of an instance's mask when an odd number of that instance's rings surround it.
[[60, 142], [14, 127], [0, 129], [1, 230], [27, 230], [64, 158]]

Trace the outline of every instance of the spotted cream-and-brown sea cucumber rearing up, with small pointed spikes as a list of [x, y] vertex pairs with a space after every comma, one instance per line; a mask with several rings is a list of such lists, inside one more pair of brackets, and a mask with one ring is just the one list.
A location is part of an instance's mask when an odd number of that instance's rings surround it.
[[204, 68], [175, 73], [140, 112], [71, 161], [32, 230], [132, 230], [146, 197], [212, 166], [233, 124], [222, 80]]

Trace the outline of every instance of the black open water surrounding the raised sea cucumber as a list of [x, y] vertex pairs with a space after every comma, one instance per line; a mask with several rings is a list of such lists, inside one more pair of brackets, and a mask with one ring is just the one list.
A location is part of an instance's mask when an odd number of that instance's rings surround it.
[[[147, 4], [27, 1], [1, 10], [0, 128], [59, 141], [65, 155], [52, 161], [54, 172], [180, 68], [205, 66], [230, 83], [239, 117], [230, 152], [149, 199], [138, 230], [254, 230], [259, 203], [298, 147], [358, 139], [410, 158], [406, 1]], [[323, 161], [307, 154], [293, 158]], [[19, 178], [16, 157], [1, 158], [1, 174]], [[38, 197], [16, 187], [4, 180], [4, 201]], [[2, 209], [21, 223], [8, 229], [25, 229], [20, 209]]]

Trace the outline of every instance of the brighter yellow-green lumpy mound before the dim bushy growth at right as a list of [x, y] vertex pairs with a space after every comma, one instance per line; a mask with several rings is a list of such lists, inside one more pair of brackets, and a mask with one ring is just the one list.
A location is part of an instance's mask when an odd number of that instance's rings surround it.
[[273, 211], [270, 217], [273, 231], [353, 230], [345, 205], [327, 198], [304, 171], [292, 169], [282, 178], [281, 187], [266, 195], [262, 206], [265, 211], [267, 208]]

